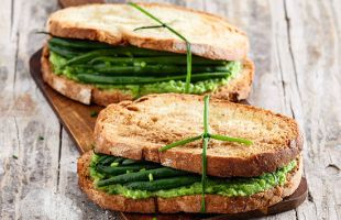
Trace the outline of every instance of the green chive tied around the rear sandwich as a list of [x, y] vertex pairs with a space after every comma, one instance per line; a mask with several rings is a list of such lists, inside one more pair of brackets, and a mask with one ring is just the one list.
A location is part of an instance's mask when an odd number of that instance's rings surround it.
[[150, 12], [147, 12], [146, 10], [144, 10], [143, 8], [138, 6], [136, 3], [129, 2], [128, 4], [134, 7], [135, 9], [138, 9], [139, 11], [141, 11], [142, 13], [144, 13], [145, 15], [150, 16], [151, 19], [153, 19], [154, 21], [156, 21], [157, 23], [161, 24], [161, 25], [141, 26], [141, 28], [134, 29], [134, 31], [142, 30], [142, 29], [165, 28], [168, 31], [170, 31], [172, 33], [174, 33], [175, 35], [177, 35], [180, 40], [186, 42], [187, 75], [186, 75], [185, 92], [188, 94], [189, 92], [189, 86], [190, 86], [190, 77], [191, 77], [191, 50], [190, 50], [189, 41], [185, 36], [183, 36], [180, 33], [175, 31], [172, 26], [169, 26], [168, 24], [164, 23], [163, 21], [161, 21], [160, 19], [157, 19], [156, 16], [154, 16], [153, 14], [151, 14]]

